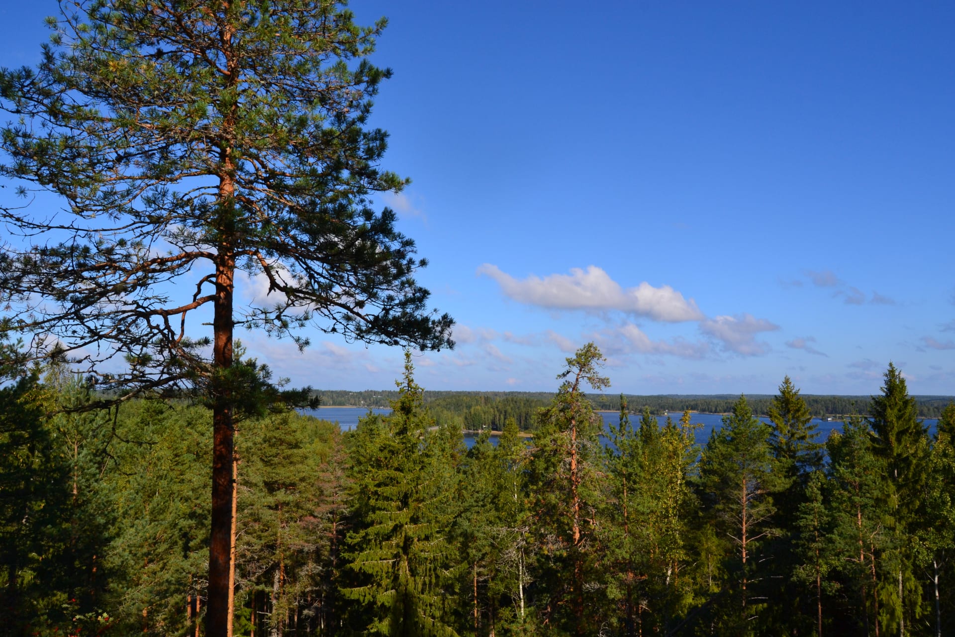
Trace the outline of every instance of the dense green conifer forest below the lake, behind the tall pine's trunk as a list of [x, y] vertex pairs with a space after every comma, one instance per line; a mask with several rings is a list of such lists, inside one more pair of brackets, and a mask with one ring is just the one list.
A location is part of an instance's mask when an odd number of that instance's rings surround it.
[[[955, 405], [930, 435], [890, 365], [819, 440], [786, 378], [771, 424], [740, 396], [701, 447], [690, 412], [602, 431], [602, 360], [567, 359], [532, 437], [470, 449], [410, 356], [350, 432], [238, 423], [234, 634], [947, 634]], [[61, 368], [0, 399], [4, 633], [205, 634], [211, 410], [83, 411]]]

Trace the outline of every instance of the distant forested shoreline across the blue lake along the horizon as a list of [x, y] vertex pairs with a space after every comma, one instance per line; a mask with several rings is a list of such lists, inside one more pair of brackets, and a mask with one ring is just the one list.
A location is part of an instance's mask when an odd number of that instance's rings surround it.
[[[389, 390], [322, 390], [313, 393], [324, 406], [387, 408], [398, 393]], [[831, 416], [842, 419], [848, 415], [870, 414], [872, 396], [800, 394], [809, 413], [815, 417]], [[438, 422], [460, 425], [462, 429], [477, 430], [490, 427], [501, 431], [508, 418], [514, 418], [521, 431], [534, 429], [534, 415], [546, 407], [553, 393], [547, 392], [435, 392], [424, 393], [425, 404]], [[594, 409], [606, 412], [620, 411], [621, 399], [626, 401], [630, 414], [698, 412], [702, 414], [729, 414], [738, 394], [678, 394], [638, 395], [632, 393], [594, 393], [588, 396]], [[912, 396], [920, 418], [938, 418], [953, 396]], [[759, 416], [769, 415], [774, 396], [747, 393], [746, 399]], [[321, 415], [321, 414], [319, 414]]]

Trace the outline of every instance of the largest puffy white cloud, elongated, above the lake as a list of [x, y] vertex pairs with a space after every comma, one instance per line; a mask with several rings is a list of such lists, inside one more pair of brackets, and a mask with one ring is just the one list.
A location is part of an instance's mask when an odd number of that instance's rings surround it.
[[625, 289], [596, 265], [589, 265], [585, 270], [574, 267], [570, 274], [551, 274], [543, 278], [530, 275], [523, 280], [515, 279], [491, 264], [481, 265], [477, 273], [494, 279], [511, 299], [541, 308], [617, 309], [671, 323], [703, 318], [696, 302], [685, 299], [672, 287], [653, 287], [645, 281], [637, 287]]

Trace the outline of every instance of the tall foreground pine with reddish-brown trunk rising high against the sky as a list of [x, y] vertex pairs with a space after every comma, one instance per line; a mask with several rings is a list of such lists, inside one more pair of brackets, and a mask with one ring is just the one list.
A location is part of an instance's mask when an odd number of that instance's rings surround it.
[[[261, 379], [237, 365], [237, 326], [308, 339], [437, 349], [452, 320], [426, 308], [414, 242], [374, 193], [406, 183], [379, 162], [369, 63], [385, 26], [331, 0], [79, 0], [50, 21], [37, 69], [0, 72], [4, 333], [62, 355], [100, 391], [202, 393], [213, 410], [208, 634], [229, 632], [233, 418]], [[176, 286], [198, 274], [195, 285]], [[243, 308], [247, 274], [270, 296]], [[33, 303], [42, 298], [43, 303]], [[198, 335], [211, 314], [211, 330]], [[206, 355], [211, 346], [211, 356]], [[113, 363], [111, 361], [116, 361]], [[100, 394], [107, 395], [107, 394]], [[301, 398], [301, 394], [296, 395]]]

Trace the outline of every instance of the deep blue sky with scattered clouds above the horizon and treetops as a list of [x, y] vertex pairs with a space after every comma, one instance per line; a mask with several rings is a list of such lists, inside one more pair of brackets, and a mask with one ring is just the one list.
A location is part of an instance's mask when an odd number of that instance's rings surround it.
[[[393, 69], [379, 197], [456, 348], [433, 390], [955, 394], [955, 5], [359, 2]], [[34, 64], [49, 0], [0, 5]], [[254, 282], [240, 297], [255, 302]], [[401, 350], [241, 335], [277, 375], [386, 389]]]

